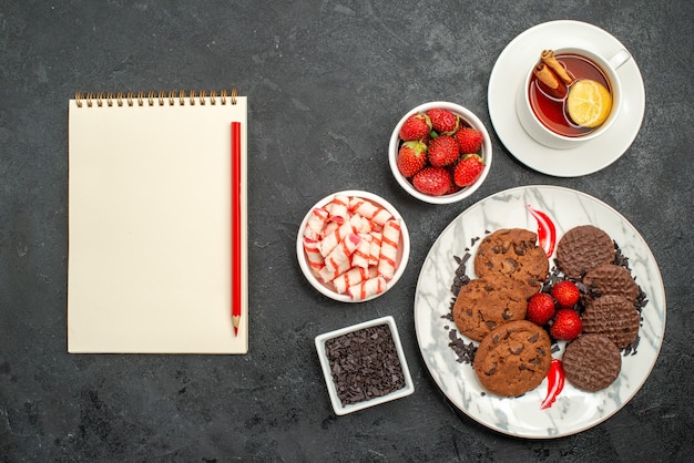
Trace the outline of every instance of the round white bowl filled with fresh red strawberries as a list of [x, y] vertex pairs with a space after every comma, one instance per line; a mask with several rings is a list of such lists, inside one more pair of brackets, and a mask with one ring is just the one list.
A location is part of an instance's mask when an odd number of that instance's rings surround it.
[[450, 204], [474, 193], [491, 168], [489, 133], [456, 103], [421, 104], [398, 122], [388, 160], [396, 181], [416, 198]]

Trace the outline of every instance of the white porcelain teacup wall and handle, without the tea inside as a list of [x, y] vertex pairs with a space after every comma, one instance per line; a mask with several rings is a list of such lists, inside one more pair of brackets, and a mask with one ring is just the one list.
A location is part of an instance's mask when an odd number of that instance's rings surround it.
[[[610, 126], [612, 126], [612, 124], [619, 116], [622, 106], [622, 84], [620, 82], [616, 70], [625, 62], [627, 62], [632, 56], [627, 50], [622, 49], [612, 56], [605, 59], [602, 55], [592, 52], [591, 50], [576, 47], [555, 49], [554, 54], [558, 56], [565, 54], [575, 54], [579, 56], [583, 56], [589, 61], [592, 61], [600, 70], [602, 70], [603, 74], [606, 76], [609, 81], [610, 93], [612, 96], [612, 109], [610, 111], [610, 115], [599, 127], [594, 128], [590, 133], [575, 136], [567, 136], [559, 134], [558, 132], [548, 127], [535, 115], [530, 101], [530, 84], [533, 79], [533, 69], [540, 61], [540, 51], [538, 51], [537, 59], [533, 60], [532, 63], [529, 63], [525, 79], [523, 80], [518, 91], [518, 97], [516, 103], [518, 120], [520, 121], [525, 132], [528, 132], [528, 134], [533, 137], [538, 143], [541, 143], [552, 148], [569, 150], [585, 143], [589, 140], [594, 140], [601, 136], [610, 128]], [[575, 78], [576, 80], [579, 80], [581, 76], [576, 75]]]

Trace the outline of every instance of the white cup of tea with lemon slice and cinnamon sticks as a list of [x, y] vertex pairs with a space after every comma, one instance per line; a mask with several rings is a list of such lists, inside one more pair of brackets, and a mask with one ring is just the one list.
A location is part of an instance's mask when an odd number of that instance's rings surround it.
[[610, 56], [578, 47], [542, 51], [518, 92], [521, 125], [538, 143], [559, 150], [601, 136], [619, 116], [616, 70], [630, 59], [624, 49]]

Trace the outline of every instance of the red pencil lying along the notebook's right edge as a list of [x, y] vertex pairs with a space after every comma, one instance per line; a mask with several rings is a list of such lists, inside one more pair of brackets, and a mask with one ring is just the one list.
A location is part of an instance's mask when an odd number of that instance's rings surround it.
[[241, 227], [241, 122], [232, 122], [232, 323], [234, 336], [238, 336], [242, 305]]

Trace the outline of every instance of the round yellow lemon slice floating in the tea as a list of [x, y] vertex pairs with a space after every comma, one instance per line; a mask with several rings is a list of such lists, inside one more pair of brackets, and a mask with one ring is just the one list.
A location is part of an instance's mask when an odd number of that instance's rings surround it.
[[584, 127], [596, 127], [608, 119], [612, 95], [600, 82], [582, 79], [571, 85], [567, 111], [573, 122]]

